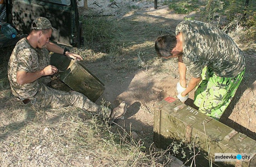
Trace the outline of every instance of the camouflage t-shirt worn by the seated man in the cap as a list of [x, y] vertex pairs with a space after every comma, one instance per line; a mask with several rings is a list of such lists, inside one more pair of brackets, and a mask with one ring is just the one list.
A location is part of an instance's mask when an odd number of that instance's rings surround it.
[[34, 96], [39, 89], [39, 81], [20, 85], [17, 83], [17, 71], [35, 72], [49, 62], [49, 51], [46, 48], [34, 49], [26, 38], [18, 41], [8, 63], [8, 78], [14, 96], [26, 99]]

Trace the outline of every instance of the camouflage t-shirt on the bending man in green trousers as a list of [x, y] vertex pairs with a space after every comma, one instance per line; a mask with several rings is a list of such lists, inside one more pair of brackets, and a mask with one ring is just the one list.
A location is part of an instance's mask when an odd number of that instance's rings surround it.
[[242, 51], [217, 27], [188, 20], [177, 25], [176, 34], [179, 32], [183, 39], [183, 62], [193, 77], [200, 77], [205, 66], [219, 77], [235, 77], [244, 69]]

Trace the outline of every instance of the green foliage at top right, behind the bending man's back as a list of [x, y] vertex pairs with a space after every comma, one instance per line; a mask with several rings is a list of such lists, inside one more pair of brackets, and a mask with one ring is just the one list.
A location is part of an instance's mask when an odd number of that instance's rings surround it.
[[[163, 4], [168, 5], [169, 9], [177, 14], [197, 12], [200, 15], [198, 20], [221, 27], [225, 32], [240, 25], [244, 28], [247, 41], [256, 40], [255, 0], [249, 0], [246, 8], [245, 0], [165, 0]], [[221, 20], [224, 21], [219, 24]]]

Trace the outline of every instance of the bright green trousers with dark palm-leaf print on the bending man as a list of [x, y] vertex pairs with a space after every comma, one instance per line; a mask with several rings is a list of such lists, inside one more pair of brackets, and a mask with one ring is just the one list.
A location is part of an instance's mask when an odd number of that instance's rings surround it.
[[195, 91], [194, 104], [199, 111], [219, 120], [234, 97], [245, 69], [236, 77], [218, 77], [212, 68], [202, 70], [202, 81]]

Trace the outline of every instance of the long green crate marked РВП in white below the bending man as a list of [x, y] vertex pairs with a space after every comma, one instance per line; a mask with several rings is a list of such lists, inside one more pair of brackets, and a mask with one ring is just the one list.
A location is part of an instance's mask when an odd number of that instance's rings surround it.
[[[186, 145], [199, 145], [197, 166], [209, 166], [211, 157], [213, 166], [256, 167], [255, 140], [173, 97], [167, 97], [155, 105], [154, 142], [158, 148], [167, 149], [173, 141], [182, 140]], [[248, 160], [215, 162], [215, 153], [244, 153], [251, 156]]]

